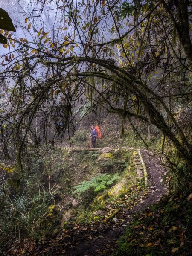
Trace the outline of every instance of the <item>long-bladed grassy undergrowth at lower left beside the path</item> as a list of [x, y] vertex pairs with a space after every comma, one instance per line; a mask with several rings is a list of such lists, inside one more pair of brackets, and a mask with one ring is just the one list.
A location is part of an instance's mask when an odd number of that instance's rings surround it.
[[46, 191], [36, 185], [33, 195], [9, 195], [1, 205], [0, 243], [21, 238], [23, 234], [35, 239], [50, 232], [58, 222], [58, 211], [54, 204], [56, 191]]

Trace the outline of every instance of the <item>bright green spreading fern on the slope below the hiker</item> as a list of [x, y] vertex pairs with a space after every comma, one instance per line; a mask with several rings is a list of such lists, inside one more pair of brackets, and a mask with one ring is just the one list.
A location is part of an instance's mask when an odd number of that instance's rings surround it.
[[72, 193], [82, 195], [84, 192], [91, 190], [94, 192], [99, 192], [106, 187], [111, 186], [116, 180], [119, 180], [120, 176], [116, 174], [99, 174], [90, 180], [82, 181], [80, 185], [74, 186], [75, 189]]

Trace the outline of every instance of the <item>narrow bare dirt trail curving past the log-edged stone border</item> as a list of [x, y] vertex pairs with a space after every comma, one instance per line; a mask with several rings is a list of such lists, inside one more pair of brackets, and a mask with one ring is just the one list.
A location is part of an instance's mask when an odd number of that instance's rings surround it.
[[[163, 194], [166, 194], [166, 187], [162, 186], [162, 179], [165, 169], [158, 164], [160, 162], [160, 157], [152, 156], [148, 154], [148, 151], [142, 150], [142, 156], [145, 161], [145, 165], [148, 171], [148, 183], [150, 184], [148, 196], [146, 196], [143, 201], [136, 204], [133, 208], [132, 213], [137, 212], [138, 210], [143, 210], [147, 206], [154, 204], [159, 201]], [[129, 215], [126, 219], [127, 223], [131, 222]], [[118, 217], [117, 217], [118, 218]], [[116, 228], [111, 228], [111, 230], [106, 230], [102, 232], [102, 237], [98, 238], [98, 234], [95, 234], [95, 237], [92, 239], [83, 240], [76, 246], [69, 248], [66, 251], [67, 256], [111, 256], [113, 251], [116, 248], [117, 241], [120, 236], [125, 232], [126, 226], [121, 225]]]

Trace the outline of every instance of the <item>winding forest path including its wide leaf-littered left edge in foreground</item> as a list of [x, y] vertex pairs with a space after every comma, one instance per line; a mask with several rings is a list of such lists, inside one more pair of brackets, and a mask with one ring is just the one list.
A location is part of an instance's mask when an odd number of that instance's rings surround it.
[[[111, 256], [135, 213], [159, 201], [167, 191], [167, 188], [162, 186], [165, 169], [160, 165], [160, 157], [153, 156], [146, 150], [140, 151], [148, 172], [149, 188], [147, 195], [137, 202], [132, 211], [122, 207], [115, 218], [107, 223], [75, 224], [71, 229], [60, 230], [49, 238], [49, 241], [45, 239], [41, 244], [36, 244], [35, 241], [30, 244], [26, 242], [25, 247], [23, 243], [17, 244], [22, 247], [24, 255]], [[15, 248], [18, 248], [17, 245]], [[14, 253], [14, 248], [9, 249], [7, 256], [23, 254], [21, 250], [16, 251]]]

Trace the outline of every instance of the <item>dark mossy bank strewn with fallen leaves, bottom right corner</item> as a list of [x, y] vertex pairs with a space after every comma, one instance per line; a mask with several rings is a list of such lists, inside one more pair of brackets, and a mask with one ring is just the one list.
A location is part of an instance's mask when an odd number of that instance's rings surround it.
[[192, 255], [190, 192], [166, 196], [138, 214], [119, 241], [115, 255]]

